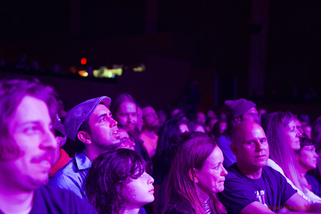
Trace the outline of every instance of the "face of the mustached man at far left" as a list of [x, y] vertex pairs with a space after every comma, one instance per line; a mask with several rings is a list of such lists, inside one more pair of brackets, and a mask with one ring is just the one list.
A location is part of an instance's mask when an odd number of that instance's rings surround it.
[[46, 103], [24, 96], [10, 118], [8, 128], [21, 155], [0, 162], [1, 173], [6, 174], [17, 188], [36, 189], [47, 181], [57, 147]]

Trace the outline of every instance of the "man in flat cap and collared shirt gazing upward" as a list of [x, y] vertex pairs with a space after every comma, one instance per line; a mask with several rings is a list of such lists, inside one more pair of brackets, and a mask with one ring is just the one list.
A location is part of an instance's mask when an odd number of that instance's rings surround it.
[[73, 107], [65, 117], [64, 130], [76, 142], [79, 152], [68, 164], [59, 169], [48, 185], [68, 189], [85, 199], [82, 183], [91, 162], [101, 153], [120, 146], [117, 122], [107, 108], [109, 97], [87, 100]]

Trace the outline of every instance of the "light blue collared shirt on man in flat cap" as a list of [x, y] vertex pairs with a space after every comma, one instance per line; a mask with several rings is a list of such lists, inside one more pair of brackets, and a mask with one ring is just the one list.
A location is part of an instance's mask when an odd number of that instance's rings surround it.
[[[76, 162], [77, 167], [74, 162]], [[61, 167], [49, 180], [48, 185], [71, 190], [81, 199], [87, 200], [81, 193], [82, 184], [86, 179], [91, 162], [82, 152], [77, 152], [65, 166]]]

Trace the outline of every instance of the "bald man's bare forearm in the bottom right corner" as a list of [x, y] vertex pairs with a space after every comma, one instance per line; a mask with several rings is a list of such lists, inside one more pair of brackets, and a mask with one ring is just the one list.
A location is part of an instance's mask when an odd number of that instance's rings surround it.
[[[301, 213], [306, 213], [306, 212], [320, 213], [321, 212], [320, 203], [310, 203], [309, 201], [305, 200], [302, 196], [300, 196], [298, 193], [294, 193], [287, 201], [284, 202], [283, 205], [292, 207], [292, 211], [297, 210]], [[298, 209], [295, 209], [294, 207], [298, 207]], [[300, 207], [302, 208], [307, 207], [308, 209], [305, 210], [305, 209], [301, 209]]]

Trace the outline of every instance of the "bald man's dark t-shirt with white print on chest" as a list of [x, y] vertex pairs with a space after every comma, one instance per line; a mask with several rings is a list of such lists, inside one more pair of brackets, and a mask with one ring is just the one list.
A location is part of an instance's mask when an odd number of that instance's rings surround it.
[[272, 211], [275, 212], [273, 206], [281, 206], [296, 193], [283, 175], [268, 166], [262, 168], [262, 175], [259, 179], [244, 176], [236, 163], [231, 165], [227, 171], [224, 191], [217, 193], [217, 196], [229, 213], [238, 213], [254, 201], [272, 206]]

